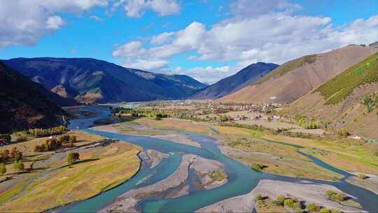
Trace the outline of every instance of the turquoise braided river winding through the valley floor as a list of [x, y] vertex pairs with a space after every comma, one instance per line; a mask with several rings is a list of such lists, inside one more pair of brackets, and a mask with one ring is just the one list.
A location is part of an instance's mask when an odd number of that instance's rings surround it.
[[[202, 145], [201, 148], [195, 146], [188, 146], [185, 144], [179, 144], [169, 142], [162, 139], [155, 139], [152, 137], [136, 136], [136, 135], [121, 135], [111, 132], [102, 132], [98, 130], [92, 130], [88, 127], [92, 125], [92, 122], [109, 116], [109, 107], [93, 107], [94, 111], [98, 112], [98, 115], [92, 118], [81, 118], [70, 121], [69, 128], [78, 129], [88, 132], [90, 134], [102, 135], [113, 139], [120, 139], [123, 141], [131, 142], [138, 146], [141, 146], [144, 150], [153, 149], [162, 153], [173, 153], [169, 158], [162, 160], [156, 167], [149, 169], [148, 165], [142, 165], [141, 170], [132, 179], [126, 181], [109, 191], [105, 191], [93, 198], [75, 202], [66, 207], [59, 208], [59, 212], [97, 212], [106, 205], [109, 205], [119, 195], [125, 193], [131, 188], [137, 188], [141, 186], [148, 186], [154, 184], [162, 179], [167, 178], [172, 174], [180, 165], [181, 157], [184, 153], [191, 153], [203, 158], [209, 158], [211, 160], [218, 160], [225, 165], [225, 172], [228, 174], [228, 183], [218, 188], [212, 188], [202, 191], [190, 191], [190, 194], [183, 195], [178, 198], [164, 199], [164, 198], [150, 198], [141, 200], [138, 203], [138, 208], [142, 212], [194, 212], [197, 209], [211, 205], [214, 202], [218, 202], [227, 198], [232, 198], [237, 195], [243, 195], [250, 192], [258, 181], [261, 179], [274, 179], [290, 182], [311, 181], [318, 184], [330, 184], [336, 186], [340, 190], [348, 193], [356, 198], [363, 209], [368, 212], [378, 212], [378, 195], [367, 191], [364, 188], [360, 188], [353, 184], [349, 184], [345, 181], [345, 178], [339, 182], [330, 181], [318, 181], [311, 179], [300, 179], [293, 177], [283, 177], [276, 174], [267, 174], [264, 172], [256, 172], [251, 170], [250, 167], [237, 162], [236, 160], [223, 155], [218, 149], [218, 142], [213, 137], [206, 135], [198, 135], [195, 133], [187, 132], [186, 135], [191, 137], [195, 142]], [[304, 153], [302, 153], [304, 154]], [[306, 154], [304, 154], [306, 155]], [[307, 155], [306, 155], [307, 156]], [[308, 156], [317, 165], [325, 167], [328, 170], [337, 172], [349, 177], [352, 174], [332, 167], [321, 160]]]

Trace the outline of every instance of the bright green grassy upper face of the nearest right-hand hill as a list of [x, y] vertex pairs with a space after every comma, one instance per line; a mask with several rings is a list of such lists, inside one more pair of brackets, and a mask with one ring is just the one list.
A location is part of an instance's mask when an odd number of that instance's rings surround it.
[[360, 85], [377, 82], [377, 70], [378, 53], [375, 53], [323, 83], [314, 92], [321, 92], [325, 98], [325, 104], [337, 104]]

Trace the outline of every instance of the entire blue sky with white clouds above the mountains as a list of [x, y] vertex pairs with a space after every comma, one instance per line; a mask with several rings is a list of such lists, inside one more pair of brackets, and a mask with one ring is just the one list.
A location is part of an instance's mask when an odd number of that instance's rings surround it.
[[[0, 58], [93, 57], [215, 81], [377, 40], [377, 1], [0, 0]], [[13, 11], [10, 13], [9, 11]]]

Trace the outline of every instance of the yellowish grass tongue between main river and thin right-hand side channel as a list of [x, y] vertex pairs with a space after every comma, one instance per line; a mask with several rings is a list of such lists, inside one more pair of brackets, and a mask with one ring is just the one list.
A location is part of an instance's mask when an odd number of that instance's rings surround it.
[[[298, 153], [298, 148], [263, 139], [266, 133], [243, 128], [214, 127], [222, 135], [216, 137], [222, 142], [223, 153], [251, 166], [255, 170], [281, 174], [289, 177], [305, 177], [335, 181], [342, 178], [330, 170], [325, 170], [306, 156]], [[239, 151], [233, 151], [232, 149]], [[243, 152], [240, 152], [243, 151]], [[260, 165], [257, 167], [256, 165]]]

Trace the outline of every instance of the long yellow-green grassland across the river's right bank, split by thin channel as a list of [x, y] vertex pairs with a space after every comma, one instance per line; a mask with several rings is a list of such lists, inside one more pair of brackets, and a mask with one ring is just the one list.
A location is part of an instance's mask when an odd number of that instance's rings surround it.
[[[264, 172], [313, 179], [335, 180], [341, 178], [339, 174], [315, 165], [309, 158], [298, 153], [298, 148], [294, 146], [301, 146], [303, 149], [300, 151], [342, 170], [367, 174], [377, 174], [378, 172], [378, 154], [374, 152], [377, 151], [378, 144], [374, 143], [365, 143], [354, 139], [288, 137], [245, 128], [198, 124], [181, 119], [165, 118], [162, 121], [154, 121], [141, 118], [136, 122], [160, 128], [174, 128], [213, 135], [224, 145], [244, 151], [241, 154], [227, 149], [224, 153], [228, 156], [251, 167], [254, 163], [265, 165]], [[211, 131], [211, 128], [218, 134]]]

